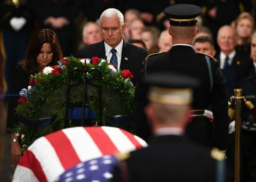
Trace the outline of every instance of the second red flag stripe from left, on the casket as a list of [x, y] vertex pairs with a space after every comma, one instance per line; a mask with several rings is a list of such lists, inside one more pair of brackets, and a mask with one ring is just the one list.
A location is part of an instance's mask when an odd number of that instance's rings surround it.
[[46, 135], [45, 138], [51, 143], [65, 170], [81, 162], [70, 140], [62, 130]]

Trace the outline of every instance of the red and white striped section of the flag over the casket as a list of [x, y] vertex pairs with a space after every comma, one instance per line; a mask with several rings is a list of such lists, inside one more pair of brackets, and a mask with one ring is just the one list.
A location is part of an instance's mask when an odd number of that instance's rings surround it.
[[146, 146], [143, 139], [115, 127], [62, 129], [29, 146], [15, 169], [13, 181], [54, 181], [78, 163]]

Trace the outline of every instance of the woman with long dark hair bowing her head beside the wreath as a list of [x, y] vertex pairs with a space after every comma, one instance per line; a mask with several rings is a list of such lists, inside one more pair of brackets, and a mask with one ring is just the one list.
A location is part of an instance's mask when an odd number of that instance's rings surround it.
[[[13, 70], [10, 94], [18, 96], [20, 90], [28, 86], [30, 75], [43, 72], [47, 66], [56, 65], [61, 58], [62, 51], [57, 35], [50, 29], [39, 30], [29, 42], [25, 60], [21, 61]], [[18, 105], [17, 98], [15, 96], [9, 98], [6, 124], [7, 133], [11, 133], [11, 157], [15, 164], [21, 158], [18, 136], [12, 131], [14, 125], [18, 125], [18, 117], [15, 115], [15, 107]]]

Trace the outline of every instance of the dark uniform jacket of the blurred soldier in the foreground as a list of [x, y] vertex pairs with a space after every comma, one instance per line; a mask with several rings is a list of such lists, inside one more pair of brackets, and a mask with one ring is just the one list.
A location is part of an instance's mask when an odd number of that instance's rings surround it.
[[[215, 181], [216, 161], [210, 153], [184, 136], [154, 137], [125, 161], [127, 181]], [[113, 181], [121, 181], [118, 172]]]

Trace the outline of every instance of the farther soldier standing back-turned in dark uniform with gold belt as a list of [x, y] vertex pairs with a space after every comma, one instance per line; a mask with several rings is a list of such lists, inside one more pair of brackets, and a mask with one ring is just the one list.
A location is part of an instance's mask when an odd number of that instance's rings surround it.
[[[148, 100], [148, 85], [141, 81], [149, 73], [178, 72], [196, 77], [201, 82], [194, 92], [193, 120], [186, 129], [187, 135], [197, 143], [217, 147], [225, 151], [228, 138], [228, 100], [225, 80], [218, 63], [213, 57], [196, 53], [192, 42], [196, 35], [197, 16], [202, 13], [201, 7], [191, 4], [177, 4], [167, 7], [164, 12], [170, 17], [169, 34], [173, 38], [172, 48], [159, 54], [149, 55], [135, 90], [135, 124], [137, 135], [147, 140], [150, 126], [147, 122], [144, 107]], [[204, 110], [211, 104], [214, 125], [205, 117]]]

